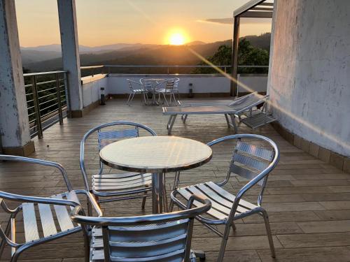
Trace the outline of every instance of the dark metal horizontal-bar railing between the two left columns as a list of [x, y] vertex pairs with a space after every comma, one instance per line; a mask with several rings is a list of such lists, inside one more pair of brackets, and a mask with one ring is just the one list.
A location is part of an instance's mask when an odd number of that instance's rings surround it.
[[66, 117], [66, 71], [25, 73], [25, 93], [31, 138]]

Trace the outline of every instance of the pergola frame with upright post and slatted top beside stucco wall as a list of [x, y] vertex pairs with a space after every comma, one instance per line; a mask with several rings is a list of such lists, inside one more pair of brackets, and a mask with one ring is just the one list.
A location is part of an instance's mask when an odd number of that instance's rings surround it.
[[265, 3], [266, 0], [251, 0], [233, 12], [233, 39], [232, 39], [232, 78], [230, 95], [237, 96], [237, 68], [238, 68], [238, 43], [239, 43], [239, 20], [241, 17], [272, 18], [274, 3]]

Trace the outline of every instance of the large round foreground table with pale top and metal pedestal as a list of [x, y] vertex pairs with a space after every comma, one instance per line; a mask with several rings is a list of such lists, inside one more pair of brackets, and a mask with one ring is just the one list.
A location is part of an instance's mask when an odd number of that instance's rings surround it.
[[152, 173], [152, 211], [161, 213], [163, 174], [188, 170], [207, 163], [213, 155], [204, 143], [176, 136], [143, 136], [120, 140], [102, 148], [99, 157], [112, 168]]

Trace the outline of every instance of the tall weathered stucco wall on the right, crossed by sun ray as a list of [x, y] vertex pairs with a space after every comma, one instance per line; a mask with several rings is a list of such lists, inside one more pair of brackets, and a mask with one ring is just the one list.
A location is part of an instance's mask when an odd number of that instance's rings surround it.
[[350, 156], [350, 1], [275, 0], [267, 92], [290, 132]]

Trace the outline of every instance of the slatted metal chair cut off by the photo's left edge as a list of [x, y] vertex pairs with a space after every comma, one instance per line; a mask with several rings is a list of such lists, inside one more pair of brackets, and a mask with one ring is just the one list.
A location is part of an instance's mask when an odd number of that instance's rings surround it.
[[[102, 212], [99, 210], [99, 206], [94, 201], [92, 194], [85, 190], [72, 189], [66, 170], [59, 163], [8, 155], [0, 155], [0, 161], [20, 161], [57, 168], [63, 176], [68, 189], [62, 194], [50, 197], [22, 196], [0, 191], [1, 208], [10, 215], [4, 231], [1, 228], [2, 225], [0, 226], [0, 237], [2, 238], [0, 257], [6, 244], [11, 247], [10, 261], [15, 262], [20, 254], [30, 247], [80, 231], [81, 226], [73, 223], [69, 217], [69, 212], [73, 208], [79, 208], [82, 213], [84, 212], [80, 206], [77, 194], [87, 196], [88, 201], [94, 206], [97, 214], [102, 216]], [[20, 202], [21, 204], [17, 208], [10, 209], [5, 200]], [[18, 224], [16, 217], [20, 213], [23, 216], [25, 242], [18, 242], [18, 235], [23, 235], [23, 233], [18, 233], [16, 230], [16, 225]], [[40, 219], [40, 224], [37, 219]]]

